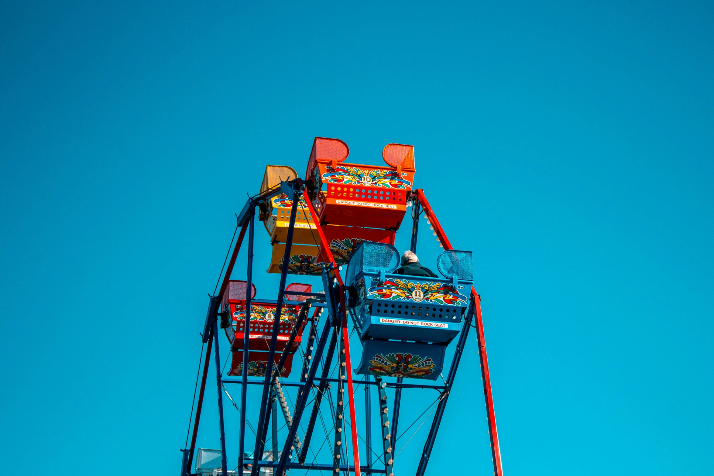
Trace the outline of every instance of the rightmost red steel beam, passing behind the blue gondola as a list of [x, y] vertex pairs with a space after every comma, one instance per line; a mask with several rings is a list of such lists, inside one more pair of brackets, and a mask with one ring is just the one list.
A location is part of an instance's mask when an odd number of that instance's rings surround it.
[[[451, 242], [446, 238], [441, 224], [436, 218], [436, 214], [431, 209], [426, 200], [424, 191], [417, 188], [413, 193], [421, 203], [424, 213], [426, 213], [431, 226], [436, 231], [436, 237], [445, 250], [453, 250]], [[488, 357], [486, 355], [486, 338], [483, 334], [483, 319], [481, 318], [481, 296], [476, 293], [476, 289], [471, 287], [474, 303], [476, 303], [476, 335], [478, 337], [478, 357], [481, 360], [481, 380], [483, 380], [483, 396], [486, 399], [486, 417], [488, 417], [488, 436], [491, 437], [491, 455], [493, 457], [493, 474], [503, 476], [503, 465], [501, 465], [501, 447], [498, 445], [498, 430], [496, 429], [496, 412], [493, 410], [493, 394], [491, 393], [491, 375], [488, 373]]]

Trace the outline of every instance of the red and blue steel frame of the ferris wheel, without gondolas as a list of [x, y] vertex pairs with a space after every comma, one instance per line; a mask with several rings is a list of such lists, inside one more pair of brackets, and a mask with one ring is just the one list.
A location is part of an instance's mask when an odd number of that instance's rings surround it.
[[[396, 444], [397, 438], [397, 428], [399, 423], [399, 416], [401, 411], [401, 396], [402, 390], [405, 388], [428, 388], [437, 390], [440, 393], [438, 398], [438, 405], [436, 410], [433, 411], [433, 420], [431, 422], [431, 428], [424, 443], [423, 450], [421, 452], [421, 459], [416, 470], [416, 476], [423, 476], [426, 471], [429, 459], [431, 457], [431, 452], [433, 450], [434, 442], [438, 434], [439, 426], [441, 425], [441, 420], [443, 418], [444, 410], [448, 402], [448, 397], [453, 388], [454, 380], [456, 378], [456, 373], [458, 370], [459, 363], [461, 361], [461, 355], [464, 348], [466, 347], [466, 341], [468, 338], [469, 330], [473, 327], [476, 329], [476, 338], [478, 341], [478, 355], [481, 364], [481, 378], [483, 381], [483, 394], [486, 403], [486, 417], [488, 420], [488, 434], [491, 440], [491, 455], [493, 460], [493, 473], [495, 476], [503, 476], [503, 467], [501, 464], [501, 451], [498, 445], [498, 431], [496, 429], [496, 416], [493, 409], [493, 395], [491, 393], [491, 378], [488, 371], [488, 357], [486, 354], [486, 343], [483, 333], [483, 319], [481, 316], [481, 297], [476, 293], [476, 290], [471, 287], [471, 292], [469, 293], [469, 303], [468, 310], [463, 317], [463, 327], [461, 333], [458, 335], [458, 343], [456, 344], [456, 350], [454, 352], [453, 358], [451, 360], [451, 366], [448, 370], [448, 375], [446, 380], [443, 381], [443, 385], [426, 385], [426, 384], [412, 384], [404, 383], [403, 378], [398, 377], [396, 382], [386, 382], [380, 378], [371, 378], [369, 375], [365, 376], [363, 380], [358, 383], [364, 385], [365, 397], [366, 397], [366, 407], [365, 407], [365, 425], [366, 433], [363, 441], [366, 443], [367, 452], [365, 465], [361, 465], [359, 457], [359, 445], [358, 445], [358, 432], [356, 423], [356, 403], [354, 401], [354, 378], [352, 375], [351, 366], [351, 354], [349, 348], [349, 333], [348, 333], [348, 297], [346, 295], [345, 283], [340, 274], [341, 266], [338, 266], [333, 259], [331, 253], [326, 253], [330, 263], [326, 263], [322, 270], [322, 281], [324, 286], [324, 294], [322, 293], [298, 293], [304, 298], [308, 298], [306, 302], [301, 303], [302, 308], [298, 316], [298, 322], [293, 325], [293, 331], [290, 335], [288, 343], [286, 345], [286, 350], [281, 355], [281, 360], [273, 370], [273, 372], [266, 372], [265, 378], [248, 379], [248, 372], [243, 372], [240, 379], [225, 378], [221, 372], [221, 358], [219, 349], [219, 339], [218, 339], [218, 309], [221, 305], [221, 300], [223, 299], [224, 293], [228, 288], [228, 284], [231, 278], [231, 273], [233, 273], [233, 268], [236, 263], [236, 258], [240, 252], [243, 240], [248, 235], [248, 245], [247, 245], [247, 267], [246, 267], [246, 289], [251, 289], [253, 281], [253, 244], [254, 244], [254, 232], [255, 232], [255, 217], [256, 208], [261, 205], [261, 203], [266, 203], [272, 197], [277, 196], [281, 193], [285, 193], [288, 197], [294, 198], [292, 204], [292, 213], [290, 219], [290, 226], [288, 228], [288, 237], [286, 240], [286, 250], [283, 263], [288, 262], [288, 257], [290, 255], [291, 245], [293, 241], [293, 231], [295, 228], [296, 220], [296, 210], [298, 207], [299, 196], [304, 196], [305, 201], [312, 213], [312, 216], [316, 216], [315, 210], [312, 206], [311, 200], [309, 199], [306, 191], [306, 186], [303, 181], [296, 178], [292, 181], [283, 181], [279, 186], [274, 186], [263, 193], [259, 193], [256, 196], [248, 198], [243, 210], [238, 215], [237, 227], [241, 228], [240, 233], [238, 233], [238, 239], [233, 247], [233, 252], [231, 253], [231, 258], [228, 261], [228, 266], [226, 272], [223, 275], [223, 280], [221, 283], [221, 288], [218, 293], [211, 296], [208, 304], [208, 311], [206, 313], [206, 319], [203, 324], [203, 332], [201, 333], [201, 338], [203, 343], [207, 345], [207, 350], [205, 358], [202, 360], [203, 370], [201, 373], [201, 387], [198, 391], [198, 401], [196, 404], [196, 414], [193, 417], [193, 428], [191, 432], [191, 445], [184, 448], [182, 451], [183, 457], [181, 461], [181, 476], [191, 476], [191, 465], [193, 463], [194, 455], [196, 453], [196, 438], [198, 435], [198, 427], [201, 422], [201, 409], [203, 406], [203, 400], [206, 391], [206, 381], [208, 378], [208, 368], [211, 361], [211, 352], [213, 352], [213, 358], [215, 360], [216, 367], [216, 386], [218, 390], [218, 420], [220, 427], [220, 440], [221, 440], [221, 474], [228, 475], [231, 472], [228, 471], [228, 464], [226, 460], [226, 431], [225, 422], [223, 417], [223, 392], [227, 390], [224, 389], [223, 384], [234, 384], [239, 385], [241, 390], [240, 397], [240, 435], [238, 441], [238, 455], [246, 454], [246, 411], [247, 407], [247, 391], [248, 385], [261, 385], [261, 404], [258, 407], [258, 425], [256, 427], [256, 444], [253, 450], [253, 459], [246, 460], [241, 457], [241, 461], [238, 463], [239, 471], [241, 475], [243, 474], [243, 467], [249, 467], [251, 470], [251, 476], [257, 476], [262, 468], [272, 468], [273, 475], [282, 475], [283, 472], [290, 469], [301, 469], [301, 470], [319, 470], [330, 472], [353, 472], [355, 475], [361, 475], [361, 473], [374, 473], [374, 474], [386, 474], [388, 476], [393, 475], [392, 465], [393, 465], [393, 448]], [[411, 232], [411, 250], [416, 252], [417, 236], [418, 236], [418, 226], [419, 218], [423, 213], [428, 219], [428, 223], [431, 224], [434, 234], [438, 239], [438, 242], [445, 250], [452, 250], [451, 242], [448, 240], [446, 233], [443, 231], [441, 224], [436, 217], [433, 209], [429, 205], [423, 190], [415, 189], [411, 193], [409, 198], [411, 206], [413, 206], [412, 211], [412, 232]], [[321, 238], [321, 243], [326, 243], [325, 236], [323, 234], [323, 229], [315, 221], [316, 231], [318, 236]], [[288, 266], [284, 265], [281, 271], [280, 284], [278, 286], [278, 299], [277, 299], [277, 309], [276, 315], [281, 315], [281, 309], [283, 304], [287, 302], [286, 300], [286, 279], [287, 279]], [[291, 294], [292, 295], [292, 294]], [[246, 293], [246, 310], [251, 309], [251, 293]], [[294, 303], [293, 303], [294, 304]], [[308, 313], [310, 308], [313, 308], [313, 315], [309, 317]], [[320, 318], [320, 314], [323, 310], [327, 311], [327, 318]], [[246, 312], [246, 330], [248, 329], [247, 320], [250, 312]], [[281, 368], [287, 355], [287, 349], [291, 347], [293, 341], [296, 338], [298, 329], [301, 328], [303, 322], [309, 321], [310, 330], [308, 333], [308, 340], [306, 344], [305, 355], [303, 356], [303, 363], [301, 365], [300, 379], [296, 381], [281, 381], [279, 379], [280, 375], [277, 369]], [[320, 328], [320, 326], [322, 326]], [[270, 350], [268, 352], [268, 362], [273, 362], [274, 356], [276, 355], [276, 342], [278, 334], [278, 325], [273, 328], [273, 333], [270, 340]], [[246, 331], [243, 333], [244, 342], [243, 348], [248, 349], [248, 336], [249, 333]], [[314, 348], [314, 349], [313, 349]], [[331, 362], [334, 355], [337, 355], [338, 368], [344, 369], [338, 373], [338, 378], [331, 378], [329, 376], [329, 370], [331, 368]], [[322, 362], [322, 364], [321, 364]], [[248, 368], [248, 352], [243, 352], [243, 369]], [[318, 370], [321, 370], [320, 376], [318, 376]], [[317, 414], [321, 407], [321, 402], [324, 395], [326, 395], [326, 389], [332, 384], [336, 385], [337, 389], [337, 401], [335, 402], [335, 434], [333, 441], [333, 462], [330, 463], [316, 463], [310, 462], [306, 463], [306, 455], [308, 447], [311, 442], [311, 436], [313, 435], [313, 430], [316, 426]], [[278, 397], [282, 395], [282, 388], [297, 388], [298, 396], [294, 405], [294, 415], [290, 417], [289, 412], [286, 413], [286, 426], [288, 427], [288, 435], [283, 440], [283, 444], [278, 444], [278, 432], [277, 432], [277, 407], [284, 405], [284, 398]], [[386, 389], [394, 389], [394, 402], [391, 411], [391, 423], [389, 421], [389, 409], [387, 406], [387, 396]], [[313, 394], [313, 400], [311, 401], [311, 407], [308, 407], [308, 398]], [[374, 467], [375, 463], [372, 460], [371, 451], [371, 436], [372, 436], [372, 422], [373, 417], [371, 416], [371, 391], [376, 390], [379, 401], [380, 415], [381, 415], [381, 428], [382, 428], [382, 459], [384, 467]], [[348, 415], [344, 415], [344, 407], [346, 406], [342, 400], [343, 395], [347, 394], [349, 412]], [[228, 395], [230, 397], [230, 395]], [[279, 400], [279, 402], [278, 402]], [[231, 398], [231, 402], [233, 399]], [[238, 407], [236, 402], [233, 405]], [[286, 409], [283, 408], [283, 412]], [[193, 412], [193, 410], [192, 410]], [[306, 416], [306, 412], [310, 413], [308, 422], [305, 428], [303, 440], [300, 441], [300, 435], [297, 434], [298, 428], [301, 427], [301, 422], [303, 422], [303, 417]], [[193, 415], [193, 413], [192, 413]], [[343, 440], [346, 442], [344, 437], [344, 432], [342, 431], [343, 421], [346, 420], [346, 416], [349, 418], [349, 423], [346, 424], [351, 432], [351, 453], [352, 453], [352, 464], [348, 461], [348, 452], [343, 450], [342, 445]], [[269, 425], [272, 422], [273, 434], [271, 435], [273, 450], [272, 455], [279, 455], [279, 459], [275, 460], [263, 460], [262, 455], [264, 454], [266, 446], [266, 438], [269, 430]], [[293, 459], [293, 452], [296, 452], [297, 460]], [[346, 455], [345, 464], [341, 463], [341, 456]], [[275, 459], [273, 457], [273, 459]], [[241, 464], [242, 463], [242, 464]]]

